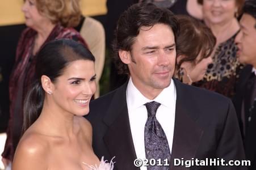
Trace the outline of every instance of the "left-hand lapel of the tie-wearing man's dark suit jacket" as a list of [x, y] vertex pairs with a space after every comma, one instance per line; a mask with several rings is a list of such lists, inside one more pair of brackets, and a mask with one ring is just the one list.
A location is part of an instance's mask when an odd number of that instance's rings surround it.
[[133, 146], [131, 128], [129, 125], [128, 109], [126, 102], [125, 83], [116, 94], [107, 111], [104, 122], [108, 130], [104, 135], [104, 142], [111, 156], [116, 156], [115, 167], [117, 169], [139, 169], [133, 165], [136, 152]]

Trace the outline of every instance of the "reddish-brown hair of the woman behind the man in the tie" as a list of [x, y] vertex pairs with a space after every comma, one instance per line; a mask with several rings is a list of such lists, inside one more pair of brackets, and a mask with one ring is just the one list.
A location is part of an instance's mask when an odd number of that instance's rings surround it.
[[177, 59], [183, 55], [183, 58], [177, 62], [178, 70], [183, 62], [196, 64], [196, 57], [199, 53], [201, 54], [199, 61], [209, 57], [216, 44], [216, 38], [211, 29], [199, 20], [186, 15], [177, 15], [177, 19], [180, 24], [180, 32], [176, 41]]

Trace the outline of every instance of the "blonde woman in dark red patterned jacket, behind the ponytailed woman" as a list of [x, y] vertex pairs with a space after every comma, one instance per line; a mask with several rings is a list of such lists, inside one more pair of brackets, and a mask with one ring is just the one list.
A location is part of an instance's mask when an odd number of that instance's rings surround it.
[[85, 41], [72, 28], [79, 23], [81, 11], [77, 0], [25, 0], [22, 7], [28, 28], [24, 29], [16, 49], [15, 64], [9, 82], [10, 120], [2, 161], [13, 159], [23, 124], [23, 101], [35, 76], [35, 59], [41, 47], [54, 39]]

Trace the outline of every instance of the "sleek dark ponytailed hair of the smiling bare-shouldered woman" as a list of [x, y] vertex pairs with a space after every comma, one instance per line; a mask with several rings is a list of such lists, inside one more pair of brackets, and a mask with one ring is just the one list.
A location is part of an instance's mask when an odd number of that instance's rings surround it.
[[36, 80], [24, 101], [23, 133], [36, 121], [43, 108], [45, 91], [41, 86], [41, 76], [48, 76], [54, 83], [66, 66], [78, 59], [95, 61], [93, 54], [84, 45], [70, 39], [48, 42], [37, 54]]

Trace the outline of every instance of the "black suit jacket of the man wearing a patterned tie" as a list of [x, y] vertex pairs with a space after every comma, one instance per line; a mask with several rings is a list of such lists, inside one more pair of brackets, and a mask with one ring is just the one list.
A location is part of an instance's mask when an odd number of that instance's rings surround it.
[[[171, 169], [188, 169], [184, 166], [173, 167], [174, 158], [244, 159], [241, 134], [231, 101], [213, 92], [187, 86], [178, 80], [174, 80], [174, 83], [177, 101]], [[116, 156], [115, 169], [119, 170], [139, 169], [133, 165], [136, 152], [129, 126], [126, 88], [127, 83], [110, 94], [92, 101], [87, 116], [93, 126], [95, 154], [108, 160]]]

